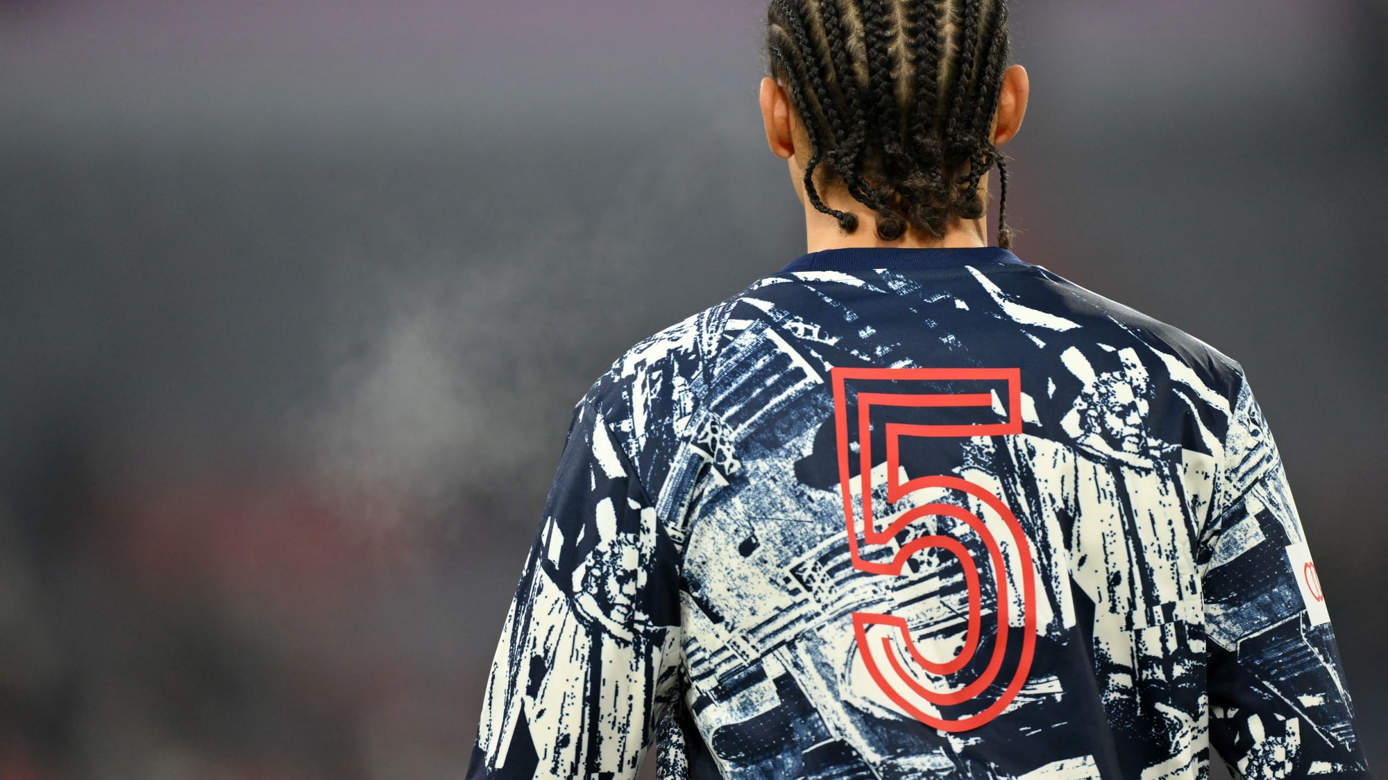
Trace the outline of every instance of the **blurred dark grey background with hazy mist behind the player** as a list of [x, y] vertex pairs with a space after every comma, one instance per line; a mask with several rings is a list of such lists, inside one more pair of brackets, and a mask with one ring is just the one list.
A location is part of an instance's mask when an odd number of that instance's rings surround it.
[[[0, 780], [461, 777], [572, 404], [804, 251], [763, 15], [0, 0]], [[1017, 253], [1242, 362], [1385, 772], [1388, 10], [1013, 24]]]

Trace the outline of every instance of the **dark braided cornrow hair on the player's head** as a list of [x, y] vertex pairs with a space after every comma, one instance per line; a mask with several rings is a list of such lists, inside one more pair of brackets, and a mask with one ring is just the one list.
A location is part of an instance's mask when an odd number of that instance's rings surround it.
[[998, 246], [1010, 248], [1008, 168], [990, 135], [1009, 40], [1006, 0], [772, 0], [766, 53], [809, 133], [811, 205], [858, 229], [823, 203], [824, 169], [876, 214], [881, 240], [908, 228], [944, 239], [984, 215], [979, 182], [997, 165]]

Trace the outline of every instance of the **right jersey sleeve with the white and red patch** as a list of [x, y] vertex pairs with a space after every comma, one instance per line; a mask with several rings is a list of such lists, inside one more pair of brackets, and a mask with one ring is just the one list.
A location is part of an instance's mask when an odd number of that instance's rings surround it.
[[1241, 380], [1201, 545], [1210, 743], [1237, 777], [1367, 777], [1273, 434]]

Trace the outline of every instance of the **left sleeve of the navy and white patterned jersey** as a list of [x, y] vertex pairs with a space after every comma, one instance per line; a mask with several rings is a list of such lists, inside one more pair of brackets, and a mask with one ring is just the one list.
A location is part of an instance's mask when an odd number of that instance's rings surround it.
[[677, 691], [677, 551], [579, 404], [507, 615], [469, 779], [636, 777]]

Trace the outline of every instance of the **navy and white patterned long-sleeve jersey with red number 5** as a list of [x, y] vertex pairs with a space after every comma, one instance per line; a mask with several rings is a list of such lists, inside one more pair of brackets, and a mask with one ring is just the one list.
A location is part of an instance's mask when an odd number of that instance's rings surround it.
[[1367, 777], [1324, 600], [1235, 361], [813, 253], [577, 404], [469, 777]]

